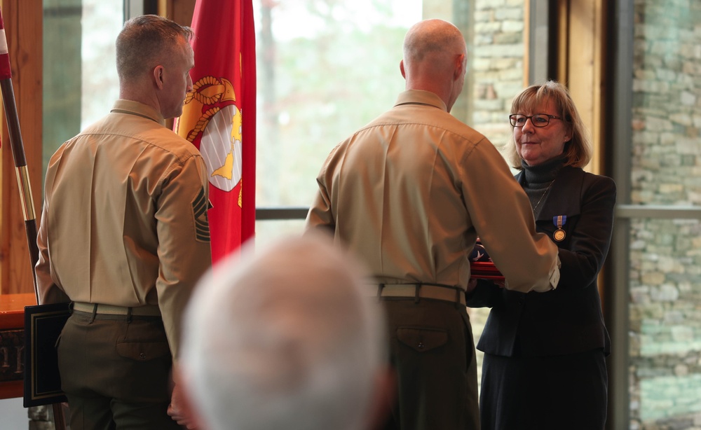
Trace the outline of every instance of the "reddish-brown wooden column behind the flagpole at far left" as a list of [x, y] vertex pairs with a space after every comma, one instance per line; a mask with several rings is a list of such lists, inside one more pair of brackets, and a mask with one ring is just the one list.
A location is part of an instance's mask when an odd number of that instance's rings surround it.
[[[41, 202], [42, 0], [1, 0], [27, 171], [39, 222]], [[34, 291], [7, 123], [0, 126], [0, 293]]]

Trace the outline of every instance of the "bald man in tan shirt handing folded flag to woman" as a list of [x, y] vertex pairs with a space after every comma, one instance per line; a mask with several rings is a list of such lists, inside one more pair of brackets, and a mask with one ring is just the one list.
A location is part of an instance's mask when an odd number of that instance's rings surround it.
[[332, 230], [374, 275], [389, 320], [398, 401], [387, 429], [477, 430], [477, 363], [465, 290], [477, 235], [515, 291], [550, 291], [557, 247], [494, 145], [449, 114], [465, 41], [449, 22], [409, 29], [406, 91], [336, 146], [308, 228]]

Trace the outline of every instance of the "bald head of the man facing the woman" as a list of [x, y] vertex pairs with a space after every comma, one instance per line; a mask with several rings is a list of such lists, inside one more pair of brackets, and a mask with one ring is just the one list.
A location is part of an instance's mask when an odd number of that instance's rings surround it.
[[450, 111], [463, 89], [467, 48], [458, 27], [444, 20], [423, 20], [404, 37], [400, 64], [407, 90], [434, 92]]

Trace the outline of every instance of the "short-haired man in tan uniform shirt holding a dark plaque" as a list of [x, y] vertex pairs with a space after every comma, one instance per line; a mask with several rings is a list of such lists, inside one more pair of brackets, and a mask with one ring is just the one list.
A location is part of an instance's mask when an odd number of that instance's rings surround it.
[[192, 88], [191, 36], [156, 15], [126, 22], [120, 99], [48, 165], [36, 277], [41, 303], [73, 303], [58, 345], [72, 430], [179, 428], [180, 318], [211, 265], [207, 170], [165, 127]]

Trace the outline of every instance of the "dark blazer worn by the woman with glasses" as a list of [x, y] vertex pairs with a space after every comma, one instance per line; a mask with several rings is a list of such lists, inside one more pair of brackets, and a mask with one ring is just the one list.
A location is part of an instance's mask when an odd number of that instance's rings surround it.
[[[516, 179], [523, 185], [523, 173]], [[468, 306], [491, 307], [477, 349], [502, 356], [548, 356], [603, 348], [611, 340], [601, 314], [597, 276], [611, 244], [613, 179], [563, 167], [555, 177], [536, 230], [559, 247], [560, 281], [547, 293], [518, 293], [480, 280]], [[553, 217], [566, 215], [561, 242]]]

